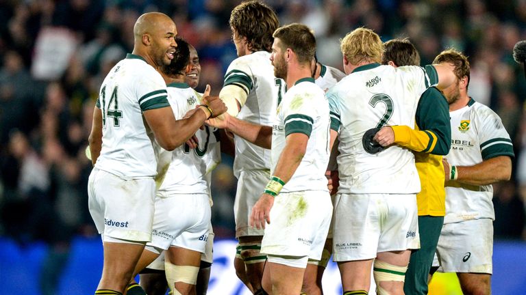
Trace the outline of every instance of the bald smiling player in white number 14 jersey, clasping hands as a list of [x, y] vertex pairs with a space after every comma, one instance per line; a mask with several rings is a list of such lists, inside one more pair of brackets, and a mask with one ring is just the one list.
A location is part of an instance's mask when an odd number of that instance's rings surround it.
[[104, 249], [95, 294], [142, 291], [138, 285], [126, 286], [151, 240], [156, 160], [146, 125], [162, 148], [173, 150], [211, 111], [220, 115], [226, 109], [221, 100], [207, 98], [203, 103], [208, 105], [200, 111], [175, 120], [166, 84], [156, 69], [173, 59], [176, 35], [175, 23], [165, 14], [142, 14], [134, 26], [134, 51], [101, 85], [89, 138], [95, 168], [88, 182], [88, 205]]

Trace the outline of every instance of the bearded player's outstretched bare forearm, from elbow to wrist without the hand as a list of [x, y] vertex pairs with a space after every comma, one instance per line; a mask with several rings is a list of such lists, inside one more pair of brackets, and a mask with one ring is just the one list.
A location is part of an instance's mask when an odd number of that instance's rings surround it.
[[270, 149], [272, 146], [271, 126], [253, 124], [236, 117], [231, 117], [228, 121], [227, 130], [262, 148]]

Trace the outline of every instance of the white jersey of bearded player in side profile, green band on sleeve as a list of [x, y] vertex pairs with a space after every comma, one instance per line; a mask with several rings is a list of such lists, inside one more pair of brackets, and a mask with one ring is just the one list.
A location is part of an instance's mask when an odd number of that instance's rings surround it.
[[282, 192], [328, 191], [325, 170], [329, 163], [329, 103], [323, 90], [314, 79], [300, 79], [287, 90], [277, 109], [272, 130], [272, 169], [286, 145], [291, 133], [309, 136], [305, 156]]

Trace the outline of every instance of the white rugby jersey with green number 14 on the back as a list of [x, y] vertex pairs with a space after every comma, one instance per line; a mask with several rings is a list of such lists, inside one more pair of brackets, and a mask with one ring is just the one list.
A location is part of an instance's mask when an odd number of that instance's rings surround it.
[[162, 76], [142, 57], [128, 54], [105, 77], [97, 107], [103, 127], [95, 167], [122, 178], [153, 178], [156, 161], [142, 112], [170, 107]]

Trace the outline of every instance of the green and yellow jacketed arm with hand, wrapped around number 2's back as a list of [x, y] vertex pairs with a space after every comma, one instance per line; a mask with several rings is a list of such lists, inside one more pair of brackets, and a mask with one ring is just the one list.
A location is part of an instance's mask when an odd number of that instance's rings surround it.
[[451, 124], [446, 98], [435, 87], [429, 87], [418, 101], [416, 126], [386, 126], [373, 138], [382, 146], [392, 143], [416, 152], [447, 155], [451, 148]]

